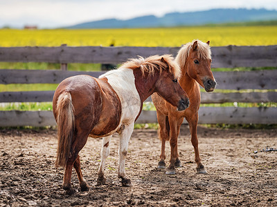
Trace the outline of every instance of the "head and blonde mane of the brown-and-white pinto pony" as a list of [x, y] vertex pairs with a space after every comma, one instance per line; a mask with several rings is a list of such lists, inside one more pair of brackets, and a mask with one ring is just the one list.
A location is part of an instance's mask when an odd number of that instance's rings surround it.
[[154, 55], [145, 59], [143, 57], [129, 59], [120, 68], [133, 69], [134, 72], [136, 71], [139, 74], [135, 78], [144, 80], [136, 81], [136, 88], [143, 88], [145, 84], [151, 84], [152, 92], [157, 92], [173, 106], [177, 106], [178, 110], [188, 108], [188, 95], [178, 82], [181, 70], [172, 55]]

